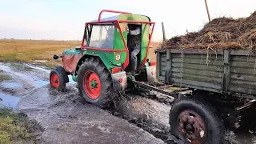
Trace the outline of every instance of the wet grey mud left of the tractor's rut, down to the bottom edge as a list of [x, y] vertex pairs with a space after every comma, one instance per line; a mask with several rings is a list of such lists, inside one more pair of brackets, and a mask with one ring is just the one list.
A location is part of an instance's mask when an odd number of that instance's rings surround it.
[[39, 80], [47, 81], [49, 70], [18, 72], [9, 65], [1, 68], [12, 75], [10, 82], [21, 85], [6, 88], [4, 83], [9, 81], [1, 82], [0, 94], [18, 95], [18, 111], [44, 129], [41, 143], [164, 143], [138, 126], [86, 103], [74, 82], [67, 84], [65, 93], [52, 90], [49, 82], [38, 86]]

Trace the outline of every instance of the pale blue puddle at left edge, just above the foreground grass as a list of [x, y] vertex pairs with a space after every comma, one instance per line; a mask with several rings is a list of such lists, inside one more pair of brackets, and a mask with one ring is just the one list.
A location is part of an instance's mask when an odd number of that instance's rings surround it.
[[19, 97], [0, 93], [0, 108], [18, 108]]

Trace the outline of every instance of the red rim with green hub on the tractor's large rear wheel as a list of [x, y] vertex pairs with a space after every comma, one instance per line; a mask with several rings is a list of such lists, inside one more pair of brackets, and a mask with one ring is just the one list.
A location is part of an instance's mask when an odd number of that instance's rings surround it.
[[93, 71], [87, 71], [84, 75], [83, 87], [90, 98], [97, 99], [102, 90], [102, 84], [98, 78], [98, 74]]

